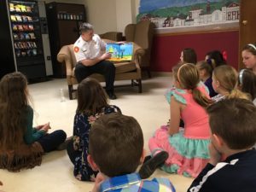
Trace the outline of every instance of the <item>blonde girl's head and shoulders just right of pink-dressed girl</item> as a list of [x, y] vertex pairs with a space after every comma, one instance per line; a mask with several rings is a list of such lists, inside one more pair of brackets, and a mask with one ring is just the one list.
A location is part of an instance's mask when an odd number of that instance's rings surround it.
[[224, 98], [241, 98], [251, 100], [247, 93], [237, 89], [238, 74], [234, 67], [229, 65], [219, 66], [212, 73], [212, 87], [217, 96], [213, 96], [213, 102], [218, 102]]

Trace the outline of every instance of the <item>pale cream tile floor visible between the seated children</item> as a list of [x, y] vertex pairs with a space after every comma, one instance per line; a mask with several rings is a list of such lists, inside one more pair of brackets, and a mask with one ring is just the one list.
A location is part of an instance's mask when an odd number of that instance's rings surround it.
[[[130, 84], [129, 81], [117, 84]], [[170, 73], [154, 74], [154, 78], [143, 80], [143, 93], [137, 88], [116, 89], [117, 100], [111, 104], [119, 106], [126, 115], [134, 116], [143, 129], [145, 148], [148, 151], [148, 138], [160, 125], [169, 119], [169, 106], [164, 94], [172, 85]], [[60, 89], [64, 90], [65, 102], [61, 102]], [[68, 99], [66, 79], [53, 79], [48, 82], [29, 84], [33, 108], [36, 110], [34, 125], [50, 122], [52, 130], [63, 129], [71, 136], [73, 116], [77, 101]], [[152, 177], [169, 177], [177, 192], [185, 192], [192, 178], [171, 175], [157, 170]], [[4, 192], [84, 192], [90, 191], [93, 183], [79, 182], [73, 177], [73, 165], [66, 151], [56, 151], [44, 155], [41, 166], [21, 172], [0, 170], [0, 191]]]

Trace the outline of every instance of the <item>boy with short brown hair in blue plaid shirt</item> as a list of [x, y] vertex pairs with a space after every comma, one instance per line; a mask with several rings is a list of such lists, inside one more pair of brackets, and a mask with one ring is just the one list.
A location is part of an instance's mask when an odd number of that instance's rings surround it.
[[100, 171], [92, 192], [175, 192], [169, 179], [142, 180], [136, 173], [144, 160], [143, 131], [137, 120], [120, 113], [102, 115], [89, 135], [90, 166]]

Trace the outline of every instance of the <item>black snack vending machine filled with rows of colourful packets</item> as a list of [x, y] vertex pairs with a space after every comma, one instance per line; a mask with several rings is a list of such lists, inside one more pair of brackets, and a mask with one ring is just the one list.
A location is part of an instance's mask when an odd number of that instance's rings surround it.
[[3, 40], [3, 46], [9, 54], [0, 54], [5, 62], [3, 68], [1, 67], [1, 75], [19, 71], [24, 73], [27, 79], [45, 77], [38, 2], [4, 0], [0, 6], [1, 31], [3, 29], [0, 39]]

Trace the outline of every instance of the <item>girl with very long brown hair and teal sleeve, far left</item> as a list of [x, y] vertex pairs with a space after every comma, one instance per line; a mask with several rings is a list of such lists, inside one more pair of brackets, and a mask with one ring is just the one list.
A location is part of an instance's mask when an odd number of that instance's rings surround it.
[[26, 77], [9, 73], [0, 81], [0, 168], [18, 172], [39, 166], [42, 154], [55, 150], [67, 137], [64, 131], [48, 133], [49, 123], [32, 127]]

